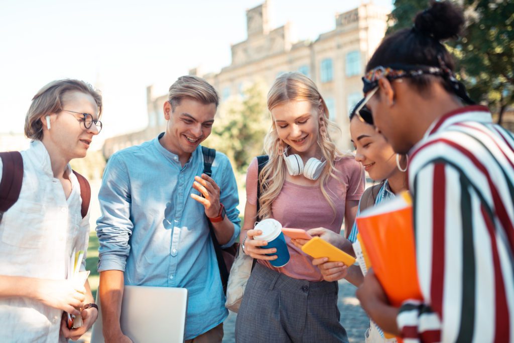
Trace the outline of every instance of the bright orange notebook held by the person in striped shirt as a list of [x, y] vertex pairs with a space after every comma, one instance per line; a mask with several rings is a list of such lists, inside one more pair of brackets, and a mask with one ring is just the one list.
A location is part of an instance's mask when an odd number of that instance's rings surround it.
[[422, 300], [416, 270], [412, 200], [403, 192], [363, 211], [357, 225], [375, 275], [393, 306]]

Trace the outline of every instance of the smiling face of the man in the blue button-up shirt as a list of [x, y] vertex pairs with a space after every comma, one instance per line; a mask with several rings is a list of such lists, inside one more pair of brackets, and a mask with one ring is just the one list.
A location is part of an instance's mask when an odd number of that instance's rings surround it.
[[164, 103], [164, 118], [168, 120], [164, 147], [181, 159], [189, 159], [195, 149], [211, 134], [216, 104], [203, 104], [191, 98], [183, 98], [172, 108]]

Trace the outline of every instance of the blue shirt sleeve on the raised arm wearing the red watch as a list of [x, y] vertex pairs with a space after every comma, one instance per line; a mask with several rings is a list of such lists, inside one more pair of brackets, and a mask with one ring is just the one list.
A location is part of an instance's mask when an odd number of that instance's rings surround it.
[[225, 157], [225, 159], [226, 163], [224, 164], [224, 170], [222, 173], [223, 179], [222, 187], [220, 187], [221, 193], [219, 194], [219, 201], [225, 206], [225, 210], [227, 211], [226, 215], [232, 224], [234, 224], [234, 234], [232, 234], [232, 238], [227, 244], [222, 245], [222, 248], [233, 245], [235, 241], [239, 239], [239, 234], [241, 232], [241, 219], [239, 218], [239, 210], [237, 209], [237, 206], [239, 205], [237, 183], [235, 181], [234, 171], [232, 170], [230, 160], [227, 157]]

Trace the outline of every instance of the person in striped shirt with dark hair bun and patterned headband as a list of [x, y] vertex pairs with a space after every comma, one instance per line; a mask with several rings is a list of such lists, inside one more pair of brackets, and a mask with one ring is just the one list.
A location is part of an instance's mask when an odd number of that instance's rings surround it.
[[[409, 341], [514, 341], [514, 135], [473, 105], [441, 43], [464, 24], [432, 2], [366, 66], [366, 106], [409, 154], [421, 300], [389, 305], [373, 273], [357, 291], [384, 330]], [[401, 81], [401, 82], [399, 82]]]

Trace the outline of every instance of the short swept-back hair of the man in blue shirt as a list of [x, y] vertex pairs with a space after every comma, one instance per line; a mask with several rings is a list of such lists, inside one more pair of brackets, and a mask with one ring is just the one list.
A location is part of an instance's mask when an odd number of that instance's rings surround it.
[[197, 76], [181, 76], [170, 86], [168, 101], [171, 104], [172, 111], [184, 98], [190, 98], [205, 105], [214, 103], [216, 107], [219, 104], [216, 89], [205, 79]]

